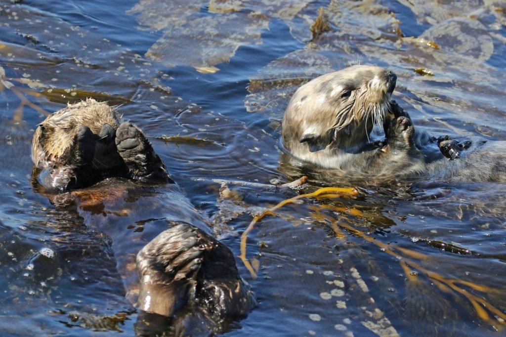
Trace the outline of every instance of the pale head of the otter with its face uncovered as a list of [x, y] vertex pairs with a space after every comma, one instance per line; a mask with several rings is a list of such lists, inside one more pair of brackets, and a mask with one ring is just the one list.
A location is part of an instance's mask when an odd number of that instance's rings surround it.
[[347, 170], [369, 149], [374, 125], [389, 117], [397, 76], [355, 65], [314, 78], [292, 96], [282, 120], [291, 155], [325, 168]]

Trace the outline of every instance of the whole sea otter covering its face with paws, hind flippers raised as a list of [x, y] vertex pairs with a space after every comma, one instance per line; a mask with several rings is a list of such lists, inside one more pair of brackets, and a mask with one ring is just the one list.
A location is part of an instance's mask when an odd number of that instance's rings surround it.
[[75, 204], [91, 230], [111, 237], [126, 297], [137, 308], [176, 321], [198, 311], [217, 321], [256, 305], [230, 249], [210, 234], [142, 131], [119, 123], [106, 103], [88, 99], [47, 117], [32, 158], [34, 184], [55, 204]]

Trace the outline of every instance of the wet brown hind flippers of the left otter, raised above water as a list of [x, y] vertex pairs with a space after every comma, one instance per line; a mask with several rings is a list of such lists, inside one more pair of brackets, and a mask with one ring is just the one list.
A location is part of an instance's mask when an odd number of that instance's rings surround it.
[[255, 306], [235, 259], [224, 244], [196, 227], [174, 223], [137, 255], [138, 307], [172, 316], [182, 307], [206, 316], [244, 314]]

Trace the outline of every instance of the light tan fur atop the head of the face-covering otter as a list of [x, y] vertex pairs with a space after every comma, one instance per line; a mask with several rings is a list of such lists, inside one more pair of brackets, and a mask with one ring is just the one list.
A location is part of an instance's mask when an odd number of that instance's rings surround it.
[[44, 169], [58, 161], [73, 145], [78, 125], [86, 125], [95, 135], [106, 123], [116, 129], [114, 110], [105, 102], [88, 98], [49, 115], [33, 135], [31, 155], [35, 166]]

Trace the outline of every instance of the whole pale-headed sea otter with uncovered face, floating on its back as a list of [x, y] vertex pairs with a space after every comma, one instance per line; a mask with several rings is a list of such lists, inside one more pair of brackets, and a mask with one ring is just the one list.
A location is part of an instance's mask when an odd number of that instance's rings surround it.
[[[417, 133], [409, 114], [391, 101], [396, 79], [387, 69], [355, 65], [309, 81], [284, 112], [285, 149], [310, 165], [351, 175], [506, 181], [506, 142], [477, 139], [459, 146], [440, 139], [439, 157], [427, 160], [430, 137]], [[370, 141], [374, 124], [383, 126], [385, 144]]]

